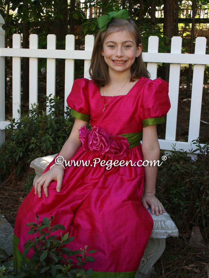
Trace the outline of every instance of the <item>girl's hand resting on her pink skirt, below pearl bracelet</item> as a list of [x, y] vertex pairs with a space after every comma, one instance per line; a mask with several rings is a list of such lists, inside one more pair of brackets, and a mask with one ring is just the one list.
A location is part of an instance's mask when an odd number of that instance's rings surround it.
[[52, 169], [41, 175], [34, 183], [35, 194], [38, 192], [38, 197], [41, 198], [41, 187], [46, 197], [48, 197], [48, 186], [52, 180], [57, 181], [57, 192], [60, 192], [62, 186], [62, 179], [64, 175], [64, 169], [60, 165], [54, 165]]

